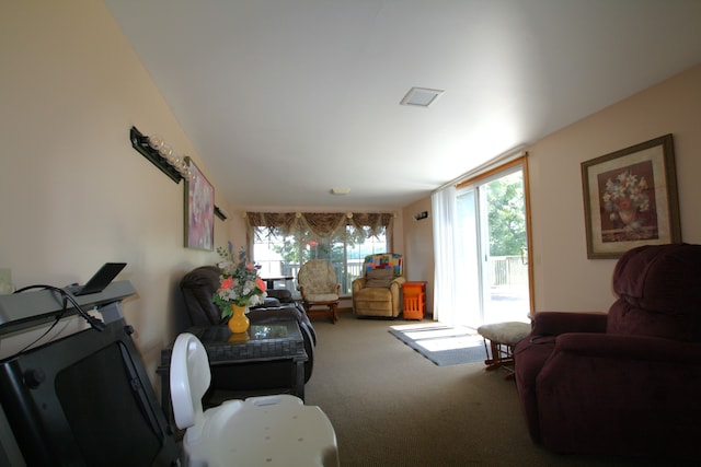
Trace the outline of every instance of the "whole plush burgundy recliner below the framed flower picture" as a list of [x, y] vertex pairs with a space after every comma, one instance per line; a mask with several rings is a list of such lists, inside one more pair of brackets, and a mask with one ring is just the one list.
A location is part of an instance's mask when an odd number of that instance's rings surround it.
[[541, 312], [515, 348], [531, 439], [560, 453], [701, 459], [701, 245], [642, 246], [608, 314]]

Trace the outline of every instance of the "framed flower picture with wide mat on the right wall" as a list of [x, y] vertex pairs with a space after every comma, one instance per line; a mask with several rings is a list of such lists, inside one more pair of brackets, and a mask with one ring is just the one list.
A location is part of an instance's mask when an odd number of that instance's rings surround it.
[[589, 259], [681, 242], [671, 135], [582, 163]]

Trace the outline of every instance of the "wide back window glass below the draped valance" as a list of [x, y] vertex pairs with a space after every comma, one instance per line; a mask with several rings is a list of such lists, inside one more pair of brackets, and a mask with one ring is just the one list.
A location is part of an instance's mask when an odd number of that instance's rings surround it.
[[[321, 237], [309, 230], [299, 230], [297, 234], [283, 234], [279, 229], [254, 227], [253, 260], [261, 265], [262, 278], [291, 277], [292, 293], [297, 294], [297, 272], [301, 265], [310, 259], [331, 261], [336, 271], [341, 294], [350, 294], [352, 283], [360, 276], [363, 259], [375, 253], [389, 250], [387, 229], [370, 231], [369, 226], [360, 231], [347, 225], [345, 235]], [[276, 287], [281, 287], [283, 281]], [[286, 287], [291, 284], [286, 282]]]

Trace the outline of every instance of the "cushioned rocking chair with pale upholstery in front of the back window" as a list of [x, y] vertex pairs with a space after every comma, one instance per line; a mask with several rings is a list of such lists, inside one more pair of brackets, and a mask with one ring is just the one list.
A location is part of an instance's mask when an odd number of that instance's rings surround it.
[[[297, 272], [297, 284], [302, 295], [302, 305], [309, 317], [329, 315], [332, 323], [338, 319], [338, 294], [341, 284], [331, 262], [310, 259]], [[319, 311], [319, 306], [323, 311]], [[317, 307], [315, 310], [312, 310]]]

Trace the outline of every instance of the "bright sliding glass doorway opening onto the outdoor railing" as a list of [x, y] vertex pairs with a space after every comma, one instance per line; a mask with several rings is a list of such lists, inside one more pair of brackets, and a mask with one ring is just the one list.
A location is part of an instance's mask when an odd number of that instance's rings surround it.
[[524, 164], [456, 191], [458, 276], [464, 312], [458, 324], [529, 322], [528, 225]]

